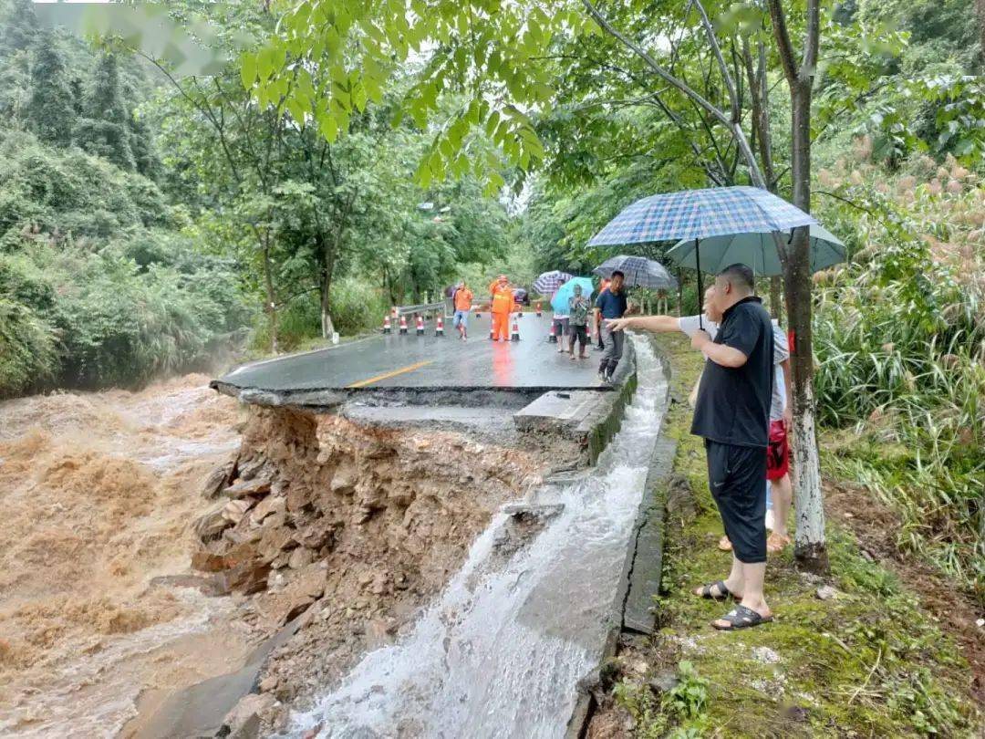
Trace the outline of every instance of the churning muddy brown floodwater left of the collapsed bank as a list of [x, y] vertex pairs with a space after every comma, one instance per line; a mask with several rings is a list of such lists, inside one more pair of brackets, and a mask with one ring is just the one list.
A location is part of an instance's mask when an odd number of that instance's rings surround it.
[[207, 382], [0, 404], [0, 734], [113, 736], [142, 690], [249, 648], [230, 599], [154, 583], [187, 571], [201, 478], [237, 444]]

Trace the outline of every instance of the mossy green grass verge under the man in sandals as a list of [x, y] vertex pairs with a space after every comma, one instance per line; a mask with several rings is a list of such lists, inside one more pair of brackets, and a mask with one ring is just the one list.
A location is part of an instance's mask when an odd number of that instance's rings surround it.
[[[700, 363], [677, 337], [661, 345], [683, 401]], [[730, 556], [716, 547], [721, 522], [689, 422], [687, 404], [675, 403], [666, 429], [679, 441], [675, 472], [693, 492], [696, 514], [668, 516], [661, 630], [641, 654], [623, 655], [628, 662], [642, 657], [646, 670], [625, 676], [615, 690], [636, 719], [636, 735], [980, 735], [967, 665], [951, 639], [894, 574], [863, 558], [851, 534], [836, 526], [828, 527], [827, 542], [835, 599], [817, 597], [821, 583], [798, 572], [788, 550], [767, 568], [774, 623], [734, 634], [710, 628], [731, 606], [691, 590], [724, 577]], [[683, 698], [658, 697], [647, 686], [660, 670], [682, 667]]]

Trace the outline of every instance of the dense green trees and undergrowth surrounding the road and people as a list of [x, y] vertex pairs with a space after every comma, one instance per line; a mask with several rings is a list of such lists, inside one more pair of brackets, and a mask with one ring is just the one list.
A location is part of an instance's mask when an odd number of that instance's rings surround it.
[[[789, 196], [790, 100], [749, 5], [715, 6], [715, 27], [767, 184]], [[0, 395], [135, 385], [237, 344], [360, 333], [460, 277], [585, 273], [610, 254], [588, 237], [634, 199], [750, 181], [721, 123], [674, 90], [644, 91], [613, 38], [548, 44], [534, 19], [524, 43], [550, 54], [483, 60], [540, 101], [508, 121], [469, 102], [474, 80], [453, 83], [406, 47], [385, 87], [369, 59], [361, 76], [301, 75], [295, 97], [274, 101], [253, 89], [270, 75], [268, 7], [172, 3], [227, 44], [223, 72], [196, 78], [43, 28], [27, 0], [0, 6]], [[611, 11], [659, 26], [670, 68], [726, 101], [693, 13]], [[979, 598], [983, 29], [970, 0], [836, 4], [812, 126], [812, 207], [849, 253], [813, 279], [818, 414], [829, 438], [850, 439], [824, 444], [825, 467], [864, 480], [900, 511], [900, 546]], [[260, 51], [241, 48], [243, 32]], [[520, 62], [523, 74], [503, 71]], [[312, 118], [296, 106], [333, 84], [350, 107]], [[782, 315], [777, 283], [763, 291]]]

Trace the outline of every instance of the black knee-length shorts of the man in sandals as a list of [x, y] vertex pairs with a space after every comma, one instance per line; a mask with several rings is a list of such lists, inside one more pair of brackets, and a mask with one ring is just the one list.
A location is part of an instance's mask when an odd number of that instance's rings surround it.
[[766, 450], [704, 439], [708, 486], [739, 562], [766, 561]]

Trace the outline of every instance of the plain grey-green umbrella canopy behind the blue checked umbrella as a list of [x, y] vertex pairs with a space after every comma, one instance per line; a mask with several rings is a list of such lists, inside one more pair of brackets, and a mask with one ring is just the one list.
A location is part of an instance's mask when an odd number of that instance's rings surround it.
[[[784, 238], [788, 238], [784, 236]], [[811, 227], [811, 271], [817, 272], [845, 260], [845, 244], [837, 236], [815, 224]], [[730, 264], [745, 264], [757, 276], [773, 277], [783, 274], [776, 240], [772, 234], [730, 234], [704, 238], [700, 243], [701, 269], [716, 274]], [[694, 241], [679, 241], [667, 252], [675, 264], [697, 268]]]

